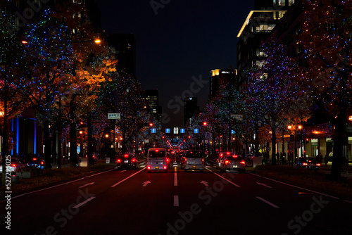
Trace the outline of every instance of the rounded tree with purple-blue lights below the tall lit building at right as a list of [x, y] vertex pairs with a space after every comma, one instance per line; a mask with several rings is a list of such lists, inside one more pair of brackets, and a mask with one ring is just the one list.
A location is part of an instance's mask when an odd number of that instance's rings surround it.
[[288, 118], [296, 118], [306, 112], [306, 106], [301, 106], [306, 94], [301, 89], [299, 81], [304, 74], [293, 58], [285, 56], [282, 45], [266, 44], [265, 53], [268, 56], [263, 68], [253, 73], [251, 80], [253, 89], [258, 91], [260, 107], [265, 111], [265, 124], [272, 131], [272, 165], [276, 165], [276, 134], [277, 129], [284, 125]]

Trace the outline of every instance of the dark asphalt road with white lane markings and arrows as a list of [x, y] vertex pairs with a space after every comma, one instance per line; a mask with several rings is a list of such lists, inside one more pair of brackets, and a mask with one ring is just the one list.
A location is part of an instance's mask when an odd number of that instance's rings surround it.
[[207, 165], [141, 163], [13, 197], [1, 234], [352, 234], [352, 202]]

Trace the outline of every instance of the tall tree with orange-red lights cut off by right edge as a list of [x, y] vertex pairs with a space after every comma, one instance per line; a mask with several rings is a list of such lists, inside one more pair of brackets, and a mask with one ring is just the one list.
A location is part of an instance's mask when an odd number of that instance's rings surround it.
[[306, 55], [306, 87], [335, 126], [331, 176], [339, 179], [347, 144], [345, 124], [352, 102], [352, 2], [304, 0], [303, 4], [303, 30], [298, 39]]

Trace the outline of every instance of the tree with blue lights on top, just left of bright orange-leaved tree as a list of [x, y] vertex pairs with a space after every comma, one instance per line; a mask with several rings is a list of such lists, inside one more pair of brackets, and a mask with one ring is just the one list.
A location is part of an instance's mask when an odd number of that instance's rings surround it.
[[57, 101], [68, 91], [73, 68], [73, 49], [68, 27], [46, 10], [41, 20], [25, 30], [30, 74], [17, 84], [37, 111], [43, 127], [46, 167], [51, 168], [50, 126], [57, 116]]

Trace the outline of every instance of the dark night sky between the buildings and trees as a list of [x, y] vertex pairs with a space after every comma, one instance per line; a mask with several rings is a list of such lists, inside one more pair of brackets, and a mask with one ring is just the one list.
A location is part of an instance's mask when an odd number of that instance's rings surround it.
[[191, 91], [202, 108], [209, 83], [194, 80], [209, 81], [210, 70], [237, 67], [237, 34], [254, 8], [251, 0], [154, 0], [168, 3], [163, 8], [153, 8], [150, 0], [96, 2], [103, 30], [135, 35], [137, 79], [143, 89], [159, 90], [163, 113], [170, 117], [163, 127], [171, 128], [183, 122], [176, 96]]

